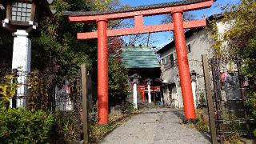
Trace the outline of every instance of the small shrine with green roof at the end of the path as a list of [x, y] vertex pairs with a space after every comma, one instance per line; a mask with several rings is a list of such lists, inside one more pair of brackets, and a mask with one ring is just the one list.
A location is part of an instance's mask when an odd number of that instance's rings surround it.
[[134, 108], [142, 102], [161, 102], [161, 70], [154, 47], [126, 46], [122, 48], [122, 62], [128, 69]]

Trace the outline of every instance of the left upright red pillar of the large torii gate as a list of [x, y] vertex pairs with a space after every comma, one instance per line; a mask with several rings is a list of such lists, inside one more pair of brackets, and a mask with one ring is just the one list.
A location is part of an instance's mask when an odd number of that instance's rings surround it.
[[108, 48], [107, 20], [101, 19], [98, 24], [98, 124], [108, 122]]

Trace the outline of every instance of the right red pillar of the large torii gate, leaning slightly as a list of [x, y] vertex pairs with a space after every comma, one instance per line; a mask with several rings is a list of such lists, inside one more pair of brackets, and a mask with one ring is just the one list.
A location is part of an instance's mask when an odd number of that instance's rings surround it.
[[178, 70], [182, 87], [182, 98], [186, 119], [194, 119], [194, 101], [190, 80], [190, 68], [187, 58], [186, 39], [183, 27], [182, 11], [172, 13], [174, 21], [174, 41], [178, 57]]

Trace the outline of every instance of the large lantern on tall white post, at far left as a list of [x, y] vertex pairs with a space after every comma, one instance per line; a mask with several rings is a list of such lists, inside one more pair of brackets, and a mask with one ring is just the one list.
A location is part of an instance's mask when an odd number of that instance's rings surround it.
[[30, 73], [31, 40], [30, 32], [36, 30], [42, 15], [51, 16], [50, 3], [53, 0], [2, 0], [1, 10], [6, 10], [2, 26], [13, 32], [14, 49], [12, 69], [18, 70], [17, 100], [10, 106], [26, 106], [27, 75]]

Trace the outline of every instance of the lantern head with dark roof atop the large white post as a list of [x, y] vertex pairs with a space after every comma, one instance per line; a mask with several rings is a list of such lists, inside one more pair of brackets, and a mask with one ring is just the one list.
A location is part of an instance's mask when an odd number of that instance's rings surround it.
[[2, 9], [6, 10], [6, 18], [2, 26], [7, 30], [26, 30], [30, 32], [38, 26], [42, 14], [51, 15], [50, 4], [54, 0], [3, 0]]

